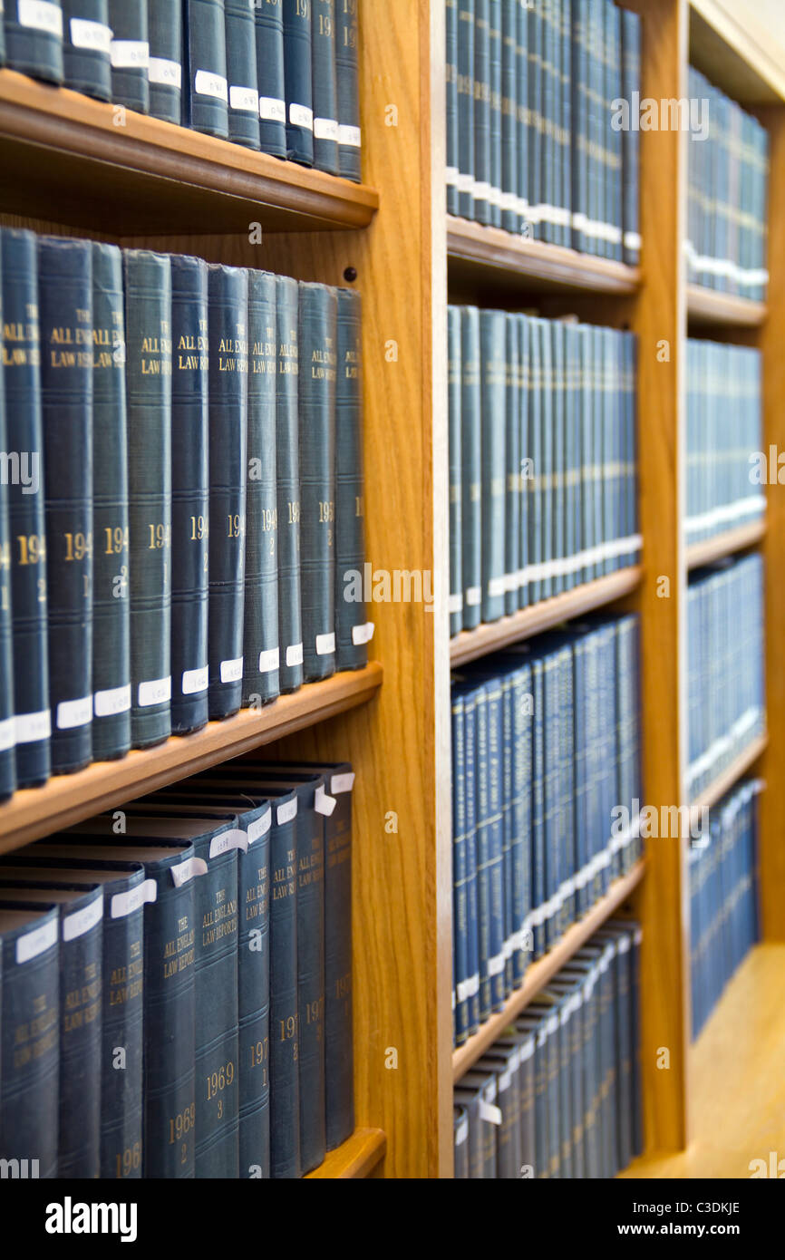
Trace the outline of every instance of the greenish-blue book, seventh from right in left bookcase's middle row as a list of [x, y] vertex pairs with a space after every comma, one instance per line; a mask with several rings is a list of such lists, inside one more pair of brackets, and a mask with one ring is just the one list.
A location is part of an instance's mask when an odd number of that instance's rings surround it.
[[126, 249], [131, 743], [171, 731], [171, 268]]

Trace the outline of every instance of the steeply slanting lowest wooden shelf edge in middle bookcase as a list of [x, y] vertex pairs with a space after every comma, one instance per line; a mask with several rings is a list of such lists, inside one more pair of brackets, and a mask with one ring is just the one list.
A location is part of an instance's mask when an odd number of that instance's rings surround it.
[[646, 863], [641, 858], [631, 871], [627, 871], [626, 874], [611, 885], [605, 897], [596, 906], [592, 906], [583, 919], [573, 924], [564, 932], [554, 949], [546, 954], [544, 958], [538, 959], [537, 963], [532, 963], [522, 987], [507, 999], [504, 1009], [491, 1016], [469, 1041], [452, 1052], [454, 1082], [459, 1081], [473, 1063], [476, 1063], [488, 1047], [493, 1046], [494, 1041], [503, 1034], [508, 1024], [524, 1011], [541, 989], [544, 989], [548, 980], [553, 979], [556, 973], [586, 944], [588, 937], [602, 926], [605, 920], [610, 919], [619, 910], [619, 906], [624, 905], [630, 893], [641, 882], [645, 871]]

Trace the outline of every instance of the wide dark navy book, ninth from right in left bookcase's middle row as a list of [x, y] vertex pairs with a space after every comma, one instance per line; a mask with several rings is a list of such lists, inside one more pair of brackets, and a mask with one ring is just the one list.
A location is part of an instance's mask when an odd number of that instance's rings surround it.
[[52, 769], [91, 760], [93, 467], [92, 252], [38, 239], [40, 389], [47, 454], [47, 593]]

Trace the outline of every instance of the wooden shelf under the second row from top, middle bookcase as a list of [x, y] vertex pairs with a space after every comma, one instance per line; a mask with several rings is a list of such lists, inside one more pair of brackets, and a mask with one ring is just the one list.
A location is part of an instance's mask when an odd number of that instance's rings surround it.
[[530, 639], [543, 630], [561, 625], [562, 621], [583, 616], [585, 612], [601, 609], [605, 604], [612, 604], [614, 600], [620, 600], [636, 590], [641, 577], [640, 566], [621, 568], [616, 573], [599, 577], [595, 582], [586, 582], [572, 591], [564, 591], [563, 595], [554, 595], [552, 600], [542, 600], [530, 609], [501, 617], [500, 621], [478, 626], [476, 630], [461, 630], [450, 643], [450, 664], [452, 668], [465, 665], [478, 656], [488, 655], [489, 651]]

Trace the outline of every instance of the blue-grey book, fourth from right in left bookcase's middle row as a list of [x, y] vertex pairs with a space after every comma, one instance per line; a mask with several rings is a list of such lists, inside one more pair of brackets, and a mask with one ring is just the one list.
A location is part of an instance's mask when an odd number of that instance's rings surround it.
[[276, 498], [276, 278], [248, 272], [248, 484], [243, 704], [278, 694], [278, 505]]

